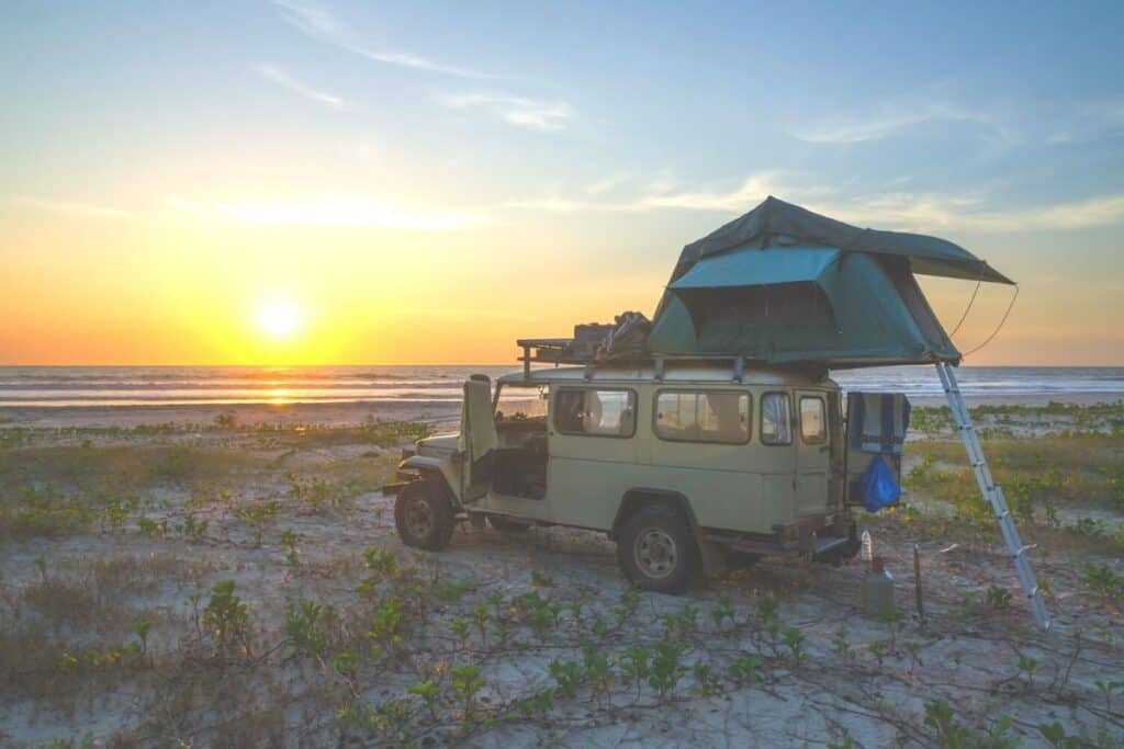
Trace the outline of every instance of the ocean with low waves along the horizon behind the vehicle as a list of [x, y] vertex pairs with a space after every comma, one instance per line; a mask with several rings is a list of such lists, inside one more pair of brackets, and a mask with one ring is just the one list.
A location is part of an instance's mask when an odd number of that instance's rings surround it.
[[[509, 366], [0, 367], [0, 409], [35, 407], [225, 405], [237, 403], [400, 403], [454, 405], [473, 373]], [[928, 366], [837, 372], [847, 390], [941, 396]], [[1124, 399], [1124, 367], [962, 367], [969, 398], [1064, 401]]]

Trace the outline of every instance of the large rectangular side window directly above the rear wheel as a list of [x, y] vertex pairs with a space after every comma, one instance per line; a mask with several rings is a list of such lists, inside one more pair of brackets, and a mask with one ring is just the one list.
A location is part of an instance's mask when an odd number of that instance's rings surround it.
[[750, 395], [736, 391], [660, 391], [655, 436], [682, 442], [750, 441]]

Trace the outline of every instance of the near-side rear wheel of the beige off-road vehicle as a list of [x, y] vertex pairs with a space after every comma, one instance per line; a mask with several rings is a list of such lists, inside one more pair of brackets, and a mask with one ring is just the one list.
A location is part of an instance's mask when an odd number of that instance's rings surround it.
[[697, 579], [700, 559], [682, 513], [649, 505], [633, 512], [620, 529], [617, 563], [644, 590], [679, 595]]

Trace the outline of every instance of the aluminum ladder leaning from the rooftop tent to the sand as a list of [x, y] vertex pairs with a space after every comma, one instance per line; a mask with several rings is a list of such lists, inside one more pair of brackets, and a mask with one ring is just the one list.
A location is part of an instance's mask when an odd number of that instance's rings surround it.
[[1010, 509], [1007, 508], [1007, 501], [1003, 496], [1003, 487], [996, 484], [995, 478], [991, 477], [991, 469], [987, 465], [987, 458], [984, 457], [984, 448], [980, 446], [976, 427], [972, 426], [972, 418], [968, 413], [964, 396], [960, 393], [953, 366], [944, 362], [939, 362], [936, 374], [940, 375], [944, 394], [949, 399], [952, 420], [955, 422], [957, 429], [960, 431], [960, 438], [964, 441], [964, 448], [968, 450], [968, 459], [971, 462], [972, 471], [976, 473], [976, 482], [980, 486], [980, 493], [987, 500], [988, 504], [991, 505], [995, 518], [999, 522], [999, 531], [1003, 533], [1003, 540], [1014, 558], [1015, 572], [1018, 573], [1018, 582], [1022, 583], [1023, 591], [1026, 593], [1027, 605], [1031, 609], [1031, 614], [1034, 616], [1034, 623], [1044, 632], [1050, 629], [1050, 612], [1046, 611], [1045, 603], [1042, 601], [1042, 591], [1034, 578], [1031, 560], [1026, 557], [1026, 552], [1034, 548], [1034, 546], [1024, 545], [1018, 537], [1018, 529], [1015, 528], [1015, 521], [1010, 517]]

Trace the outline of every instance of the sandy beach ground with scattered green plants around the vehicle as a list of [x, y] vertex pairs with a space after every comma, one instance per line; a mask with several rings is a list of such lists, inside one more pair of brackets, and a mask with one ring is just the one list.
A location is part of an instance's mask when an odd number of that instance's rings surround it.
[[[238, 426], [217, 423], [224, 413]], [[1059, 527], [1044, 503], [1021, 521], [1051, 591], [1042, 634], [991, 521], [957, 514], [971, 478], [935, 411], [910, 444], [907, 509], [861, 515], [897, 579], [892, 624], [861, 613], [858, 560], [765, 559], [671, 597], [629, 594], [614, 545], [583, 530], [463, 523], [444, 552], [406, 548], [379, 491], [406, 432], [377, 420], [444, 428], [455, 409], [0, 412], [0, 743], [933, 746], [925, 715], [946, 707], [979, 736], [1039, 746], [1037, 727], [1059, 722], [1114, 746], [1124, 697], [1096, 683], [1124, 668], [1111, 577], [1124, 572], [1112, 538], [1120, 417], [980, 419], [997, 464], [1018, 471], [1013, 486], [1033, 478], [1040, 502], [1061, 506]], [[133, 429], [157, 424], [173, 426]], [[1108, 570], [1102, 588], [1090, 568]], [[245, 604], [245, 650], [200, 624], [218, 621], [207, 612], [220, 610], [221, 581]], [[306, 603], [330, 614], [309, 619]], [[620, 675], [629, 652], [669, 643], [670, 687]], [[473, 667], [466, 700], [468, 672], [452, 669]], [[560, 681], [568, 669], [573, 684]], [[426, 681], [432, 705], [410, 692]]]

